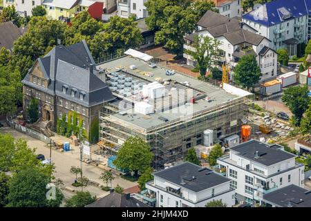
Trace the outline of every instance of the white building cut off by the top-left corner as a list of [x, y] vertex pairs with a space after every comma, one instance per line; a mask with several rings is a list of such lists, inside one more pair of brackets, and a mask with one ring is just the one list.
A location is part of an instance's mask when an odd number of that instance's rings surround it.
[[31, 16], [32, 8], [36, 6], [41, 6], [41, 3], [44, 0], [3, 0], [3, 7], [15, 6], [19, 15], [24, 15], [26, 12], [27, 15]]

